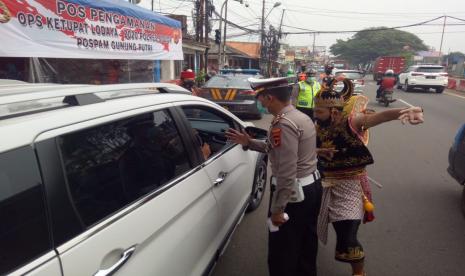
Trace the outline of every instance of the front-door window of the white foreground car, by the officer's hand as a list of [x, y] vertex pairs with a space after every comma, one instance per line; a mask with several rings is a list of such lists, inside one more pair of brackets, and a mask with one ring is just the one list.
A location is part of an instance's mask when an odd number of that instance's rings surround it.
[[232, 145], [226, 139], [225, 131], [235, 125], [227, 115], [204, 106], [183, 106], [182, 110], [205, 160]]

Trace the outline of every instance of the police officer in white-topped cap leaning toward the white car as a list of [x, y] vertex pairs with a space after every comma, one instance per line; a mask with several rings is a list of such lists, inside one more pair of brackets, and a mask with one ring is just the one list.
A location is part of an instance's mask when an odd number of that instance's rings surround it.
[[[321, 180], [316, 170], [316, 132], [308, 116], [290, 103], [287, 78], [249, 79], [256, 97], [274, 115], [266, 141], [230, 129], [232, 142], [267, 152], [272, 188], [269, 210], [268, 268], [271, 276], [316, 275], [316, 223]], [[287, 219], [288, 217], [288, 219]], [[276, 229], [273, 229], [276, 230]]]

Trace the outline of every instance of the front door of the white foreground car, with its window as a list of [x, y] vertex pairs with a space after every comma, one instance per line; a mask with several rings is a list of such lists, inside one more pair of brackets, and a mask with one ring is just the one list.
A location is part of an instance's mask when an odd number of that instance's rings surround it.
[[247, 207], [258, 154], [227, 141], [224, 132], [238, 125], [220, 109], [205, 105], [182, 105], [181, 109], [192, 132], [200, 136], [199, 143], [211, 148], [204, 169], [214, 185], [213, 194], [220, 208], [219, 236], [227, 237]]

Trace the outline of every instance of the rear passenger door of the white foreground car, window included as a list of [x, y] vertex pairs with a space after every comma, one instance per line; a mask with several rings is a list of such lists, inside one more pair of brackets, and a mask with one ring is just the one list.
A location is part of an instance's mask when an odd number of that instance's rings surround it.
[[[168, 109], [141, 109], [41, 135], [56, 145], [63, 180], [50, 188], [64, 275], [201, 275], [216, 253], [219, 214], [210, 179], [194, 167], [185, 134]], [[137, 113], [137, 114], [134, 114]], [[55, 162], [56, 163], [56, 162]], [[54, 164], [45, 164], [49, 170]], [[55, 166], [56, 167], [56, 166]], [[47, 177], [48, 179], [48, 177]], [[66, 186], [64, 192], [63, 186]], [[60, 207], [61, 206], [61, 207]], [[60, 230], [61, 229], [61, 230]]]

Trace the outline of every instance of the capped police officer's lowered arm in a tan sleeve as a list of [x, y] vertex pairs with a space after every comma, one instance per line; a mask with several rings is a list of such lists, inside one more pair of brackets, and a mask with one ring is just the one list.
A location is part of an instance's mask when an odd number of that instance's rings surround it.
[[[297, 158], [298, 158], [298, 133], [294, 127], [285, 123], [279, 123], [275, 128], [281, 129], [280, 140], [278, 145], [275, 144], [273, 151], [276, 153], [276, 163], [273, 175], [276, 177], [276, 191], [273, 194], [271, 203], [271, 213], [284, 212], [289, 198], [292, 193], [292, 187], [297, 175]], [[277, 137], [274, 137], [276, 142]]]

